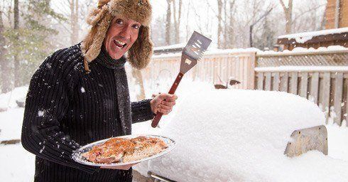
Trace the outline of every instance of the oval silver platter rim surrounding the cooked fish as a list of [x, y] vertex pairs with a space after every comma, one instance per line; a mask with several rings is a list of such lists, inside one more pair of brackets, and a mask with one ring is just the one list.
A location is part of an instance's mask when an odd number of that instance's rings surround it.
[[[121, 137], [114, 137], [114, 138], [133, 139], [133, 138], [141, 137], [141, 136], [162, 139], [165, 142], [165, 144], [167, 144], [168, 148], [164, 149], [163, 151], [161, 151], [160, 153], [158, 153], [156, 155], [148, 156], [148, 157], [143, 158], [143, 159], [138, 160], [138, 161], [131, 161], [131, 162], [126, 162], [126, 163], [119, 162], [119, 163], [112, 163], [112, 164], [96, 164], [96, 163], [92, 163], [90, 161], [87, 161], [87, 159], [85, 159], [85, 157], [83, 157], [82, 154], [89, 151], [90, 149], [92, 149], [93, 146], [104, 144], [105, 141], [109, 140], [109, 139], [103, 139], [103, 140], [95, 141], [92, 144], [87, 144], [85, 146], [82, 146], [80, 149], [77, 149], [76, 151], [74, 151], [72, 153], [72, 159], [74, 161], [77, 161], [80, 164], [85, 164], [88, 166], [124, 166], [124, 165], [137, 164], [137, 163], [142, 162], [142, 161], [148, 161], [151, 159], [155, 159], [159, 156], [163, 156], [164, 154], [168, 154], [168, 152], [172, 151], [175, 148], [175, 141], [173, 139], [170, 139], [168, 137], [158, 136], [158, 135], [136, 134], [136, 135], [126, 135], [126, 136], [121, 136]], [[110, 138], [110, 139], [112, 139], [112, 138]]]

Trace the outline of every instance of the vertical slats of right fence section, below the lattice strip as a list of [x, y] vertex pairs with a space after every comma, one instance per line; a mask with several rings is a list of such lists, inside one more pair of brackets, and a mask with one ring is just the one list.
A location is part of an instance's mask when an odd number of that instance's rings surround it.
[[259, 69], [256, 68], [256, 88], [276, 90], [300, 95], [312, 100], [325, 113], [328, 120], [339, 125], [348, 121], [348, 71], [315, 69]]

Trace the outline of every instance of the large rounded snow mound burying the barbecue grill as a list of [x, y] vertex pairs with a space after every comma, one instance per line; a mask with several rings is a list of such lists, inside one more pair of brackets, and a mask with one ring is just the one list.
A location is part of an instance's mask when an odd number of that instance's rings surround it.
[[321, 124], [313, 102], [285, 92], [195, 92], [162, 129], [176, 148], [149, 161], [148, 170], [174, 181], [344, 181], [346, 161], [318, 151], [283, 155], [295, 129]]

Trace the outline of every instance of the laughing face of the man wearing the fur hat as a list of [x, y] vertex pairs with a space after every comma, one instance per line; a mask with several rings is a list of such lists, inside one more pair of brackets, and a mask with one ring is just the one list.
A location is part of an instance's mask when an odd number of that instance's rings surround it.
[[114, 18], [104, 39], [104, 46], [113, 59], [119, 59], [138, 38], [141, 23], [128, 18]]

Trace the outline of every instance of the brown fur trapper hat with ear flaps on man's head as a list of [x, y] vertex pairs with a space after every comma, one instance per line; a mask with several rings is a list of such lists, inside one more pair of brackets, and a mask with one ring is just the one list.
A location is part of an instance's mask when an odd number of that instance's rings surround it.
[[98, 7], [87, 18], [92, 28], [81, 46], [85, 71], [90, 72], [88, 63], [99, 55], [107, 30], [115, 17], [127, 17], [141, 23], [138, 39], [128, 50], [128, 61], [134, 68], [145, 68], [153, 50], [150, 36], [151, 9], [149, 0], [99, 0]]

